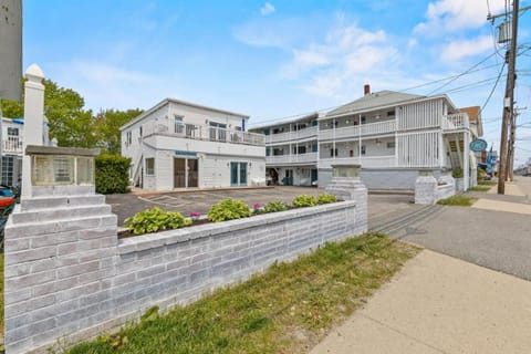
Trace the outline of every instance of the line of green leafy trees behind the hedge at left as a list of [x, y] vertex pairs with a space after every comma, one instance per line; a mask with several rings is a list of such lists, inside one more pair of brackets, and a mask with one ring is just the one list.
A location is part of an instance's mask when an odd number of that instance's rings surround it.
[[[98, 147], [103, 153], [119, 155], [119, 127], [143, 113], [142, 110], [85, 110], [84, 98], [72, 88], [65, 88], [51, 80], [43, 80], [44, 115], [50, 124], [50, 138], [59, 146]], [[8, 118], [23, 118], [23, 102], [0, 101]]]

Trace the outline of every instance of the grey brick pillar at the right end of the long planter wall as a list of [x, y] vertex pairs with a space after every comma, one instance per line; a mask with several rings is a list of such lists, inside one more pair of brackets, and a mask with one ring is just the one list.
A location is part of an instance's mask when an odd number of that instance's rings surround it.
[[325, 191], [341, 200], [356, 201], [356, 235], [368, 229], [367, 187], [360, 179], [361, 165], [332, 165], [332, 180]]

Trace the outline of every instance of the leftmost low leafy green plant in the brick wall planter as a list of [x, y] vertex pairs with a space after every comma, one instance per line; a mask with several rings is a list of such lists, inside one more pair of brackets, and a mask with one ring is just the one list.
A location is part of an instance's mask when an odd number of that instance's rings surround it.
[[185, 219], [180, 212], [163, 211], [157, 207], [137, 212], [124, 221], [124, 226], [135, 235], [178, 229], [187, 225], [191, 225], [191, 220]]

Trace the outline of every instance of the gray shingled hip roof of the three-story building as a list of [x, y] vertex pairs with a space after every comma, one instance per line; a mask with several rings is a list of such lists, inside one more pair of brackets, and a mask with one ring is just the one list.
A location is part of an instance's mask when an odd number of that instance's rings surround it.
[[326, 114], [326, 116], [341, 115], [351, 112], [363, 112], [369, 111], [373, 108], [391, 106], [394, 104], [399, 104], [406, 101], [414, 101], [419, 98], [425, 98], [426, 96], [413, 95], [408, 93], [395, 92], [395, 91], [379, 91], [371, 93], [366, 96], [357, 98], [351, 103], [342, 105], [339, 108], [335, 108]]

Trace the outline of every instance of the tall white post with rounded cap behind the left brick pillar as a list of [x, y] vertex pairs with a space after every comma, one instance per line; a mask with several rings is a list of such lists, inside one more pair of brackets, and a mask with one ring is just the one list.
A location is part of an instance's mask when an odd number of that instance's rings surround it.
[[[24, 137], [22, 148], [28, 145], [43, 145], [44, 133], [44, 85], [42, 70], [32, 64], [25, 71], [24, 84]], [[22, 158], [22, 196], [31, 196], [31, 160]]]

